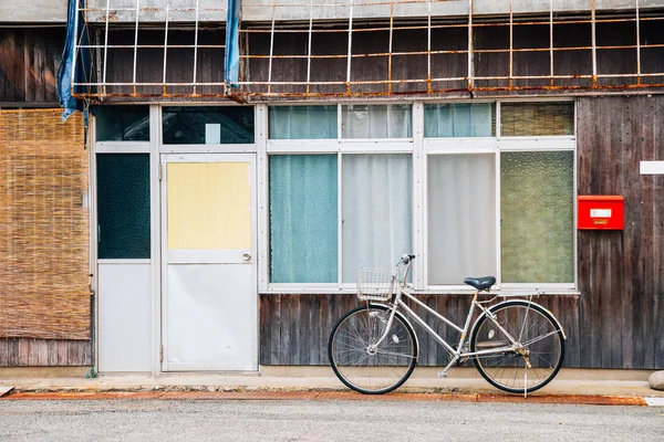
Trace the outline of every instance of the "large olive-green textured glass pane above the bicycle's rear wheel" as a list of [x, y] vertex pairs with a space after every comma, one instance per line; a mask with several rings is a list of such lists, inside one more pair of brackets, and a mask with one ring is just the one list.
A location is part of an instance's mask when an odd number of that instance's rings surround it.
[[502, 282], [574, 282], [573, 173], [573, 151], [500, 156]]

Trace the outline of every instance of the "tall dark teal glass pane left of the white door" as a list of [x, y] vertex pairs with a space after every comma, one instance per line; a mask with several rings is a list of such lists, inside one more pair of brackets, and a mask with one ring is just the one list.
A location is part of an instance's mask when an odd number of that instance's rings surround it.
[[100, 154], [96, 159], [98, 257], [148, 259], [149, 155]]

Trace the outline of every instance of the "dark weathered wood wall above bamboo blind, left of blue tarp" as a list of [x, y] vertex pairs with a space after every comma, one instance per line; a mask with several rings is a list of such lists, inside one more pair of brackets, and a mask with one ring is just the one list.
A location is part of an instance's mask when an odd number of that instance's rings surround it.
[[58, 103], [62, 28], [0, 28], [0, 103]]

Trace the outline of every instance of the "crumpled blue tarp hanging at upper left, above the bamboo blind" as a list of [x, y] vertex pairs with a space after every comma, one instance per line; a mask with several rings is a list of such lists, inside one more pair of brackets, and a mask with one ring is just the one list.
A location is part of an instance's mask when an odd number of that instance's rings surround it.
[[[72, 96], [72, 70], [75, 69], [74, 83], [90, 82], [92, 74], [92, 62], [90, 49], [80, 51], [76, 56], [76, 66], [74, 67], [74, 42], [79, 39], [80, 45], [87, 45], [89, 36], [85, 29], [83, 13], [79, 12], [79, 23], [76, 29], [76, 2], [80, 2], [81, 9], [85, 8], [85, 0], [69, 0], [69, 10], [66, 14], [66, 40], [64, 51], [62, 52], [62, 63], [58, 70], [58, 95], [60, 95], [60, 107], [62, 110], [62, 122], [66, 120], [75, 110], [83, 112], [85, 125], [87, 126], [87, 106], [83, 99]], [[83, 86], [76, 86], [76, 93], [84, 92]]]

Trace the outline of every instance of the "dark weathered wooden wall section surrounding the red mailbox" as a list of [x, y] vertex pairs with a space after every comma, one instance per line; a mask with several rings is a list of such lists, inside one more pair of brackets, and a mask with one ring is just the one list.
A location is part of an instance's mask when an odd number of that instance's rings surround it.
[[581, 98], [578, 109], [579, 194], [625, 198], [624, 231], [579, 232], [581, 366], [663, 368], [664, 189], [639, 167], [664, 156], [664, 97]]

